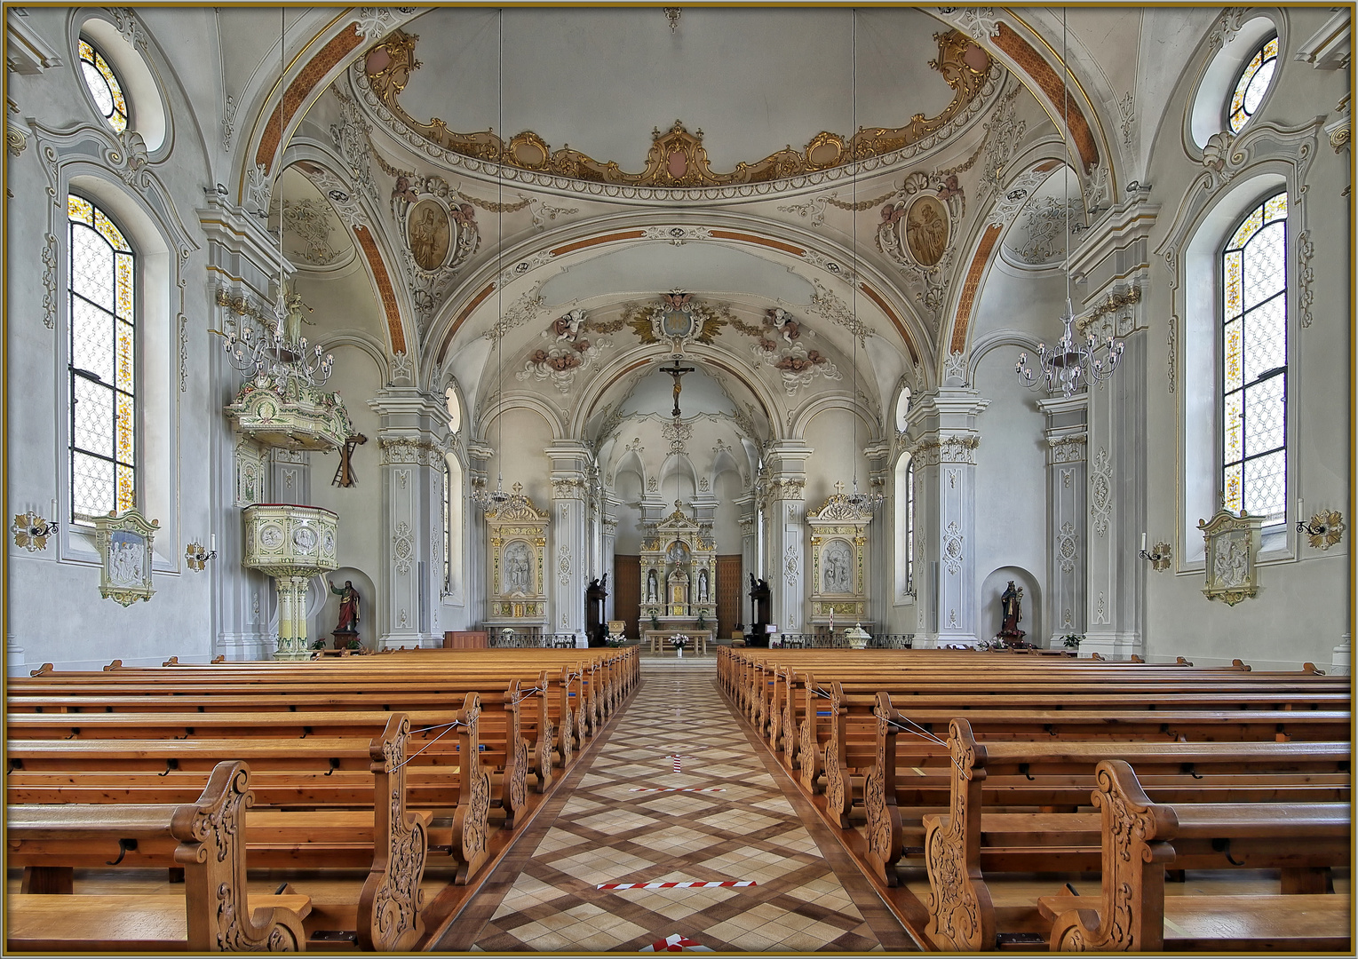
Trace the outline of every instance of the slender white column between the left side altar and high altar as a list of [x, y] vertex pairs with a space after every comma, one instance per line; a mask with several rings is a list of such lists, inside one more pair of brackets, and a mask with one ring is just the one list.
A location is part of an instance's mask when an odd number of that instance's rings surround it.
[[551, 621], [547, 632], [585, 634], [589, 541], [585, 528], [589, 448], [559, 440], [543, 452], [551, 460]]

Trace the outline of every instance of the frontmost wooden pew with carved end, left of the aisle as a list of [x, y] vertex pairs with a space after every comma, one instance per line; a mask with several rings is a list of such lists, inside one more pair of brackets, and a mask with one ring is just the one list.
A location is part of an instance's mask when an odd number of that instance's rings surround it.
[[5, 820], [11, 865], [18, 849], [76, 860], [91, 846], [163, 844], [183, 869], [183, 895], [7, 897], [5, 944], [46, 952], [225, 952], [306, 949], [301, 895], [249, 901], [240, 842], [250, 804], [250, 767], [221, 762], [202, 793], [182, 806], [11, 807]]

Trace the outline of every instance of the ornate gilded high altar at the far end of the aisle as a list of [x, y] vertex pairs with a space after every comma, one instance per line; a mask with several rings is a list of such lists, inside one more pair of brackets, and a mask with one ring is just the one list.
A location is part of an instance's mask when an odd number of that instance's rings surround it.
[[659, 621], [664, 633], [714, 636], [717, 543], [710, 527], [699, 526], [675, 503], [675, 511], [646, 534], [641, 542], [642, 632], [648, 621]]

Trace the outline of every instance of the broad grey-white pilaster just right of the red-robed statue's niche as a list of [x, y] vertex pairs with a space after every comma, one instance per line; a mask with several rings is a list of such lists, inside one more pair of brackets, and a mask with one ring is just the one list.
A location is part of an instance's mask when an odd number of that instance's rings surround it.
[[[387, 387], [368, 401], [380, 417], [383, 581], [378, 647], [440, 645], [435, 598], [443, 573], [443, 450], [447, 408], [414, 387]], [[384, 594], [384, 595], [383, 595]]]

